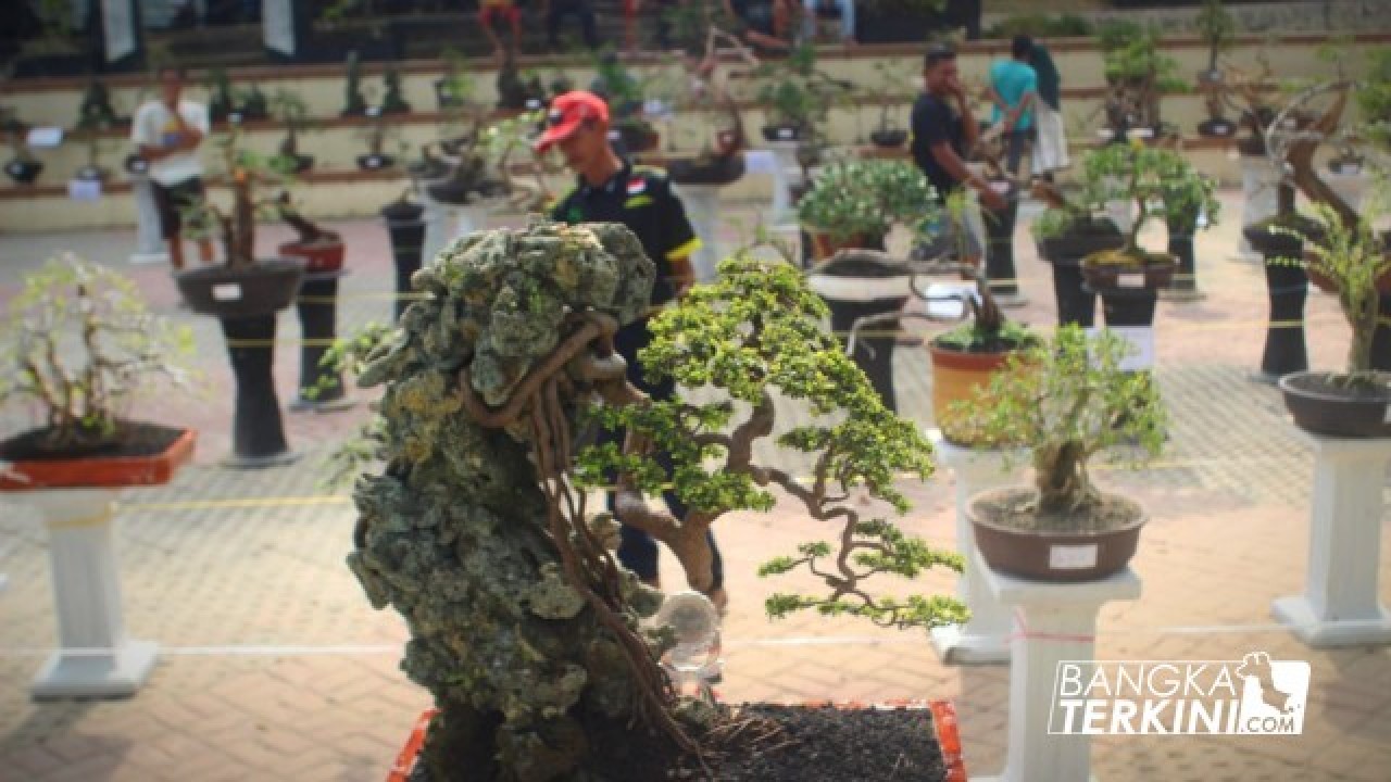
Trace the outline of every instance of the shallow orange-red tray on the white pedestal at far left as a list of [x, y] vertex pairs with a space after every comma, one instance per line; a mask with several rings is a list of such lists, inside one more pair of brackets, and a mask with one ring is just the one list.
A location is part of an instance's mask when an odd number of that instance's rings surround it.
[[[136, 424], [150, 434], [156, 452], [93, 454], [53, 459], [15, 459], [0, 472], [0, 491], [39, 488], [159, 486], [193, 458], [198, 433], [192, 429], [167, 429]], [[13, 442], [8, 441], [8, 442]], [[163, 447], [159, 444], [164, 442]]]

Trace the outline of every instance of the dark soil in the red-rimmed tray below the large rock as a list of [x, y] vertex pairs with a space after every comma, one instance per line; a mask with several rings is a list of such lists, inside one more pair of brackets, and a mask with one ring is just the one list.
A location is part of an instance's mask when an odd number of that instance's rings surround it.
[[[705, 769], [666, 739], [626, 725], [588, 725], [595, 756], [584, 779], [604, 782], [940, 782], [942, 749], [926, 710], [746, 704], [721, 707], [693, 735]], [[469, 764], [467, 768], [485, 768]], [[410, 782], [440, 782], [417, 763]], [[479, 782], [483, 782], [479, 778]]]

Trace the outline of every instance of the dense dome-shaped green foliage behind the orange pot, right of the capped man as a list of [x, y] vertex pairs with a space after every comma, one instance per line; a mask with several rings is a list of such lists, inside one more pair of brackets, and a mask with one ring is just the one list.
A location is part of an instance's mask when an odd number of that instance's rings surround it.
[[918, 231], [938, 217], [932, 185], [917, 167], [893, 160], [828, 166], [797, 203], [797, 218], [832, 241], [882, 245], [896, 223]]

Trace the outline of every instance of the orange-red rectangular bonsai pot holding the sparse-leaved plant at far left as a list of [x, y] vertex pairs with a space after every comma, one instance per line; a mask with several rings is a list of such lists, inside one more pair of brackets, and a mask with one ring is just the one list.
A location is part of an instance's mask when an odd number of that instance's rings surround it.
[[152, 423], [129, 422], [128, 433], [115, 442], [83, 454], [45, 452], [33, 442], [42, 434], [31, 430], [0, 442], [0, 459], [10, 462], [0, 472], [0, 491], [38, 488], [157, 486], [193, 456], [198, 433]]

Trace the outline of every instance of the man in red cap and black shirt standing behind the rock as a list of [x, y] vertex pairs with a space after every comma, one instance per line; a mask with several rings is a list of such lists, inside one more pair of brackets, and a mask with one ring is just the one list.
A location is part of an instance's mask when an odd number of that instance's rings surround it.
[[[551, 217], [562, 223], [622, 223], [643, 244], [647, 257], [657, 266], [657, 282], [652, 285], [648, 314], [666, 302], [683, 294], [694, 281], [690, 255], [700, 248], [700, 238], [686, 220], [686, 209], [672, 192], [666, 171], [650, 166], [633, 166], [613, 152], [609, 145], [609, 110], [601, 97], [591, 92], [568, 92], [551, 102], [547, 129], [536, 142], [537, 152], [552, 146], [559, 147], [565, 164], [579, 174], [579, 179], [568, 193], [556, 202]], [[627, 360], [629, 381], [654, 399], [670, 399], [676, 392], [676, 381], [666, 377], [648, 383], [637, 363], [637, 352], [647, 346], [651, 335], [647, 331], [647, 317], [625, 326], [613, 338], [615, 348]], [[601, 430], [600, 442], [615, 442], [622, 447], [623, 433]], [[670, 461], [658, 455], [662, 466], [670, 472]], [[686, 505], [673, 491], [662, 494], [676, 518], [686, 515]], [[609, 508], [613, 498], [609, 495]], [[657, 586], [657, 541], [645, 532], [623, 525], [618, 548], [619, 561], [638, 575], [644, 582]], [[725, 573], [715, 547], [715, 582], [709, 598], [723, 611]]]

